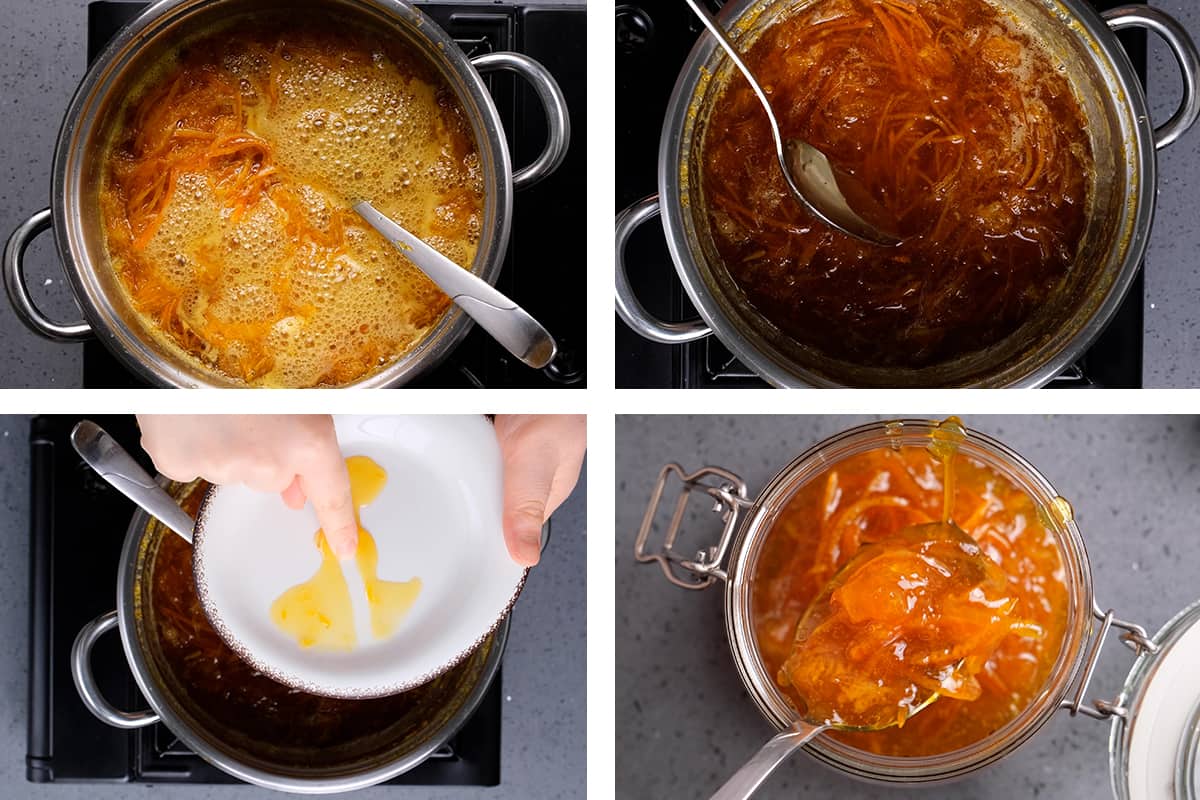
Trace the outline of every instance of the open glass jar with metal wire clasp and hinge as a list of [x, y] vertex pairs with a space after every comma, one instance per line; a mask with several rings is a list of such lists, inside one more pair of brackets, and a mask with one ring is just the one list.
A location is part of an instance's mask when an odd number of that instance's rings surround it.
[[[635, 555], [643, 563], [658, 563], [668, 581], [686, 589], [707, 589], [724, 582], [725, 628], [733, 662], [746, 692], [776, 729], [791, 727], [798, 715], [764, 667], [758, 651], [751, 614], [751, 585], [763, 545], [780, 512], [802, 487], [839, 462], [883, 447], [926, 446], [937, 428], [936, 421], [895, 420], [846, 431], [809, 449], [784, 467], [754, 499], [745, 482], [724, 468], [704, 467], [686, 473], [672, 463], [660, 473], [638, 530]], [[1117, 619], [1112, 610], [1100, 610], [1096, 603], [1087, 551], [1070, 505], [1058, 497], [1034, 465], [1003, 443], [971, 429], [958, 452], [998, 473], [1025, 492], [1038, 509], [1045, 530], [1054, 536], [1069, 602], [1062, 646], [1044, 685], [1030, 704], [1004, 727], [967, 747], [936, 756], [893, 757], [862, 751], [830, 736], [818, 736], [805, 745], [809, 754], [817, 760], [857, 778], [902, 784], [971, 775], [1014, 752], [1060, 709], [1072, 715], [1112, 716], [1120, 721], [1124, 714], [1121, 698], [1112, 702], [1084, 700], [1104, 638], [1110, 630], [1120, 630], [1122, 640], [1139, 654], [1139, 661], [1153, 658], [1158, 651], [1144, 628]], [[672, 477], [680, 482], [679, 495], [661, 546], [652, 548], [649, 537], [658, 506]], [[686, 558], [676, 552], [674, 545], [688, 516], [689, 499], [696, 492], [715, 501], [713, 511], [721, 516], [725, 524], [716, 545]], [[1130, 674], [1130, 680], [1133, 678]]]

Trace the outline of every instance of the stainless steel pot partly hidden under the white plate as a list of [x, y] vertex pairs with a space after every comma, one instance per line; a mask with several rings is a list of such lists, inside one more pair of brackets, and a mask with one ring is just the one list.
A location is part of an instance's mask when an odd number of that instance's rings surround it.
[[[175, 491], [182, 487], [175, 486]], [[182, 497], [182, 495], [180, 495]], [[116, 610], [101, 614], [79, 631], [71, 649], [71, 673], [88, 709], [116, 728], [142, 728], [162, 722], [188, 747], [234, 777], [270, 789], [300, 794], [326, 794], [373, 786], [424, 762], [472, 716], [496, 678], [508, 638], [509, 618], [450, 673], [437, 679], [437, 703], [426, 703], [420, 718], [383, 733], [368, 748], [348, 751], [335, 764], [301, 763], [251, 753], [235, 736], [193, 708], [186, 692], [155, 657], [155, 638], [148, 631], [152, 615], [150, 589], [154, 558], [162, 537], [174, 537], [162, 523], [138, 511], [125, 536], [116, 579]], [[118, 628], [126, 661], [149, 710], [125, 711], [112, 705], [91, 672], [91, 650], [108, 631]], [[426, 688], [415, 690], [427, 691]], [[372, 702], [372, 700], [365, 700]], [[323, 748], [328, 758], [330, 747]], [[338, 756], [341, 758], [341, 756]], [[314, 759], [316, 760], [316, 759]]]

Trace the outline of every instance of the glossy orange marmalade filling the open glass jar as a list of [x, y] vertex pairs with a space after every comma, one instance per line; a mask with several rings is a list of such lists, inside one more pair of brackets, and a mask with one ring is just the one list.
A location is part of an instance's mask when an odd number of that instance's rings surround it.
[[[856, 585], [847, 581], [848, 590], [842, 585], [835, 594], [841, 591], [840, 614], [857, 613], [876, 627], [857, 632], [846, 627], [842, 639], [847, 649], [824, 655], [854, 657], [852, 640], [870, 639], [872, 652], [858, 655], [866, 660], [874, 656], [877, 663], [872, 668], [880, 675], [902, 676], [941, 694], [902, 728], [828, 735], [888, 756], [944, 753], [998, 730], [1042, 690], [1066, 632], [1062, 561], [1033, 500], [1006, 477], [961, 456], [953, 457], [953, 467], [946, 471], [950, 456], [938, 452], [940, 444], [935, 439], [931, 449], [880, 449], [850, 456], [802, 487], [763, 543], [751, 588], [763, 662], [790, 702], [804, 709], [805, 699], [796, 692], [793, 680], [802, 686], [820, 685], [820, 680], [809, 679], [821, 672], [824, 661], [821, 652], [812, 652], [812, 660], [806, 661], [799, 649], [793, 656], [797, 624], [838, 570], [874, 545], [866, 553], [880, 558], [868, 558], [860, 565], [865, 570], [851, 570], [851, 581], [863, 579]], [[953, 481], [949, 492], [946, 475]], [[998, 569], [982, 576], [943, 575], [935, 589], [937, 610], [946, 613], [914, 621], [906, 618], [914, 591], [919, 593], [912, 578], [931, 578], [932, 573], [925, 569], [928, 560], [910, 564], [913, 570], [902, 569], [914, 548], [898, 535], [906, 529], [911, 533], [912, 525], [942, 521], [947, 507], [954, 524]], [[920, 560], [920, 554], [917, 557]], [[980, 587], [986, 590], [977, 594]], [[884, 627], [900, 630], [904, 637], [880, 630]], [[876, 640], [888, 636], [894, 640]], [[905, 637], [904, 648], [884, 646]], [[952, 644], [961, 654], [944, 651]], [[966, 661], [961, 675], [922, 674], [923, 664], [944, 663], [952, 655], [976, 661]]]

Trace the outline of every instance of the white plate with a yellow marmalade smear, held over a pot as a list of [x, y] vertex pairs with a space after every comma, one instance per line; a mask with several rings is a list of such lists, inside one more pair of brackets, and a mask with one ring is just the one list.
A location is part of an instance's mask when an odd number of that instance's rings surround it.
[[388, 473], [359, 517], [379, 551], [378, 576], [421, 579], [400, 627], [385, 639], [360, 636], [344, 651], [301, 648], [276, 627], [271, 603], [320, 563], [319, 525], [311, 506], [293, 511], [277, 494], [242, 486], [214, 487], [200, 507], [196, 585], [226, 643], [280, 682], [330, 697], [395, 694], [474, 650], [512, 608], [527, 570], [504, 546], [500, 452], [484, 417], [336, 417], [335, 425], [344, 456], [370, 456]]

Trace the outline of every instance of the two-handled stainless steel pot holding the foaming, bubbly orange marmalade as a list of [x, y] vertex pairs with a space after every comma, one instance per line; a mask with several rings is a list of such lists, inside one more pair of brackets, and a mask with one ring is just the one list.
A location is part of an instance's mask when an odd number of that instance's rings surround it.
[[[518, 53], [487, 53], [468, 59], [438, 25], [403, 0], [307, 0], [308, 6], [334, 10], [395, 35], [434, 65], [458, 96], [470, 120], [479, 149], [486, 200], [482, 235], [472, 271], [496, 283], [508, 249], [512, 190], [533, 186], [552, 174], [566, 157], [570, 121], [566, 102], [550, 72]], [[155, 341], [138, 320], [104, 252], [96, 196], [103, 169], [102, 149], [115, 122], [125, 92], [164, 49], [202, 31], [217, 19], [296, 4], [271, 0], [158, 0], [126, 25], [88, 70], [71, 104], [54, 150], [50, 207], [38, 211], [13, 231], [4, 253], [4, 279], [17, 315], [35, 333], [50, 339], [80, 341], [97, 336], [134, 374], [162, 386], [228, 386], [230, 379], [202, 368]], [[546, 112], [545, 149], [528, 167], [512, 172], [504, 130], [481, 73], [506, 70], [529, 82]], [[22, 258], [30, 241], [54, 228], [59, 257], [66, 269], [84, 320], [58, 323], [34, 305], [25, 285]], [[444, 359], [470, 329], [469, 318], [454, 306], [407, 355], [388, 368], [353, 384], [396, 386], [412, 380]]]

